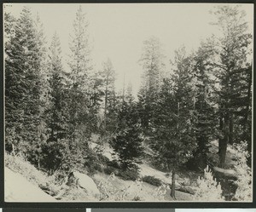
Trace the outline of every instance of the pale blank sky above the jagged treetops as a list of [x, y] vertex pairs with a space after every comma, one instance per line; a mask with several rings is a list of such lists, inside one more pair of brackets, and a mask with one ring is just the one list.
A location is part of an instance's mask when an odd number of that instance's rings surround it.
[[[125, 74], [126, 84], [131, 81], [134, 93], [140, 86], [143, 69], [138, 60], [148, 37], [160, 39], [168, 65], [181, 45], [188, 51], [197, 49], [202, 39], [217, 33], [216, 26], [209, 24], [213, 20], [209, 11], [219, 5], [213, 3], [9, 3], [5, 8], [17, 17], [24, 5], [34, 14], [38, 12], [48, 46], [54, 32], [59, 35], [64, 66], [73, 20], [82, 5], [90, 23], [91, 57], [96, 69], [109, 57], [118, 75], [117, 89], [122, 88]], [[253, 4], [241, 4], [241, 9], [247, 12], [253, 29]]]

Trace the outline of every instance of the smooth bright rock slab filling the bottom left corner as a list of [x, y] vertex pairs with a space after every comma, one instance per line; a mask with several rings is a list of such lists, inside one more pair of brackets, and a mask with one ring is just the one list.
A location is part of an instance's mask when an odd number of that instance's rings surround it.
[[57, 200], [19, 173], [4, 169], [4, 199], [6, 202], [56, 202]]

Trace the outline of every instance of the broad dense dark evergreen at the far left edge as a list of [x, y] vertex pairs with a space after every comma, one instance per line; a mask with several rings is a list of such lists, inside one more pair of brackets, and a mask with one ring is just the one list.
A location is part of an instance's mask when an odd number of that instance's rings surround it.
[[38, 43], [29, 8], [22, 9], [15, 24], [15, 36], [10, 37], [9, 43], [5, 49], [6, 143], [36, 163], [42, 141], [40, 70], [44, 43]]

